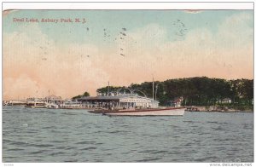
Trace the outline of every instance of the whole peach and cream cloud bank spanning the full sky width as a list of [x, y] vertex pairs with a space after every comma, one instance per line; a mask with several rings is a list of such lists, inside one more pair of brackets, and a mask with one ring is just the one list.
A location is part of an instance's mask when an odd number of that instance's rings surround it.
[[[218, 31], [198, 27], [170, 41], [169, 27], [151, 23], [119, 34], [115, 43], [61, 45], [37, 24], [3, 33], [3, 98], [85, 90], [168, 78], [253, 78], [253, 16], [233, 14]], [[122, 39], [120, 38], [122, 37]], [[121, 55], [122, 54], [122, 55]]]

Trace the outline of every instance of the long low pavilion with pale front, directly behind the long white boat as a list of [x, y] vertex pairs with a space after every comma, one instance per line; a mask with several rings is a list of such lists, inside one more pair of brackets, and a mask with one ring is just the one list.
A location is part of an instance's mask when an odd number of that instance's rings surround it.
[[123, 94], [110, 96], [81, 97], [80, 103], [90, 104], [91, 107], [105, 107], [109, 109], [120, 108], [152, 108], [158, 107], [159, 101], [137, 94]]

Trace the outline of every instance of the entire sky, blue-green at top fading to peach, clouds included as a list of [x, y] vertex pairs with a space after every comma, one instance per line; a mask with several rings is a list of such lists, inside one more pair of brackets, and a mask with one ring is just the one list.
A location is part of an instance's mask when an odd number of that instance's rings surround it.
[[96, 95], [153, 76], [252, 79], [253, 10], [3, 12], [3, 100]]

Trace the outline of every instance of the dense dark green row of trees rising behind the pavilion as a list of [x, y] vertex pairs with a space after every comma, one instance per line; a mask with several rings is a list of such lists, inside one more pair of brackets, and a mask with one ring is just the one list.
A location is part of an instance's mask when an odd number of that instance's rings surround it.
[[[138, 95], [152, 97], [152, 82], [131, 83], [128, 89], [136, 89]], [[107, 95], [117, 90], [127, 93], [125, 87], [107, 86], [97, 89], [97, 93]], [[143, 93], [141, 93], [143, 92]], [[225, 80], [220, 78], [177, 78], [164, 82], [154, 82], [154, 98], [160, 105], [166, 106], [178, 97], [183, 97], [183, 105], [210, 106], [219, 105], [224, 99], [231, 104], [253, 105], [253, 79]]]

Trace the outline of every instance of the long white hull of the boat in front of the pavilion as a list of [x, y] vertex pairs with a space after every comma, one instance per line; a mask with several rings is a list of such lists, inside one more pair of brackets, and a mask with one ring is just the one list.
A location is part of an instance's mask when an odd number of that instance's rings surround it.
[[119, 112], [103, 112], [105, 115], [113, 116], [183, 116], [185, 108], [172, 108], [165, 110], [149, 110], [149, 111], [119, 111]]

